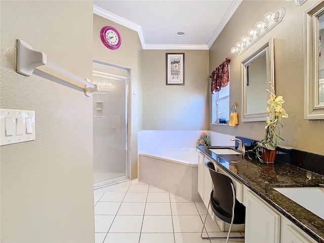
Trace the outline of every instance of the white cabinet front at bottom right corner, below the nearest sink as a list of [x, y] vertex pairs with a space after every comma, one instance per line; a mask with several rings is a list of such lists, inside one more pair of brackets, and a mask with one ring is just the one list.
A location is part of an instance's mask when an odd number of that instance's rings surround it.
[[316, 241], [286, 217], [281, 217], [280, 243], [315, 243]]

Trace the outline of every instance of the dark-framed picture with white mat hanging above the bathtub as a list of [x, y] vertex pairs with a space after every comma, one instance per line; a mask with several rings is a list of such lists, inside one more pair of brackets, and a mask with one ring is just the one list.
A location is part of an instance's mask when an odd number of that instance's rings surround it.
[[184, 85], [184, 53], [166, 53], [167, 85]]

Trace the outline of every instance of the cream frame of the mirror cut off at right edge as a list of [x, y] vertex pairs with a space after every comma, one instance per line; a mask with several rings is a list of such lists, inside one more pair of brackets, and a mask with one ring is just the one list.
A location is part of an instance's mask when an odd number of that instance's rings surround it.
[[[315, 7], [314, 7], [315, 6]], [[304, 82], [304, 119], [324, 119], [324, 105], [318, 104], [318, 17], [324, 14], [324, 3], [320, 1], [305, 12], [305, 82]]]

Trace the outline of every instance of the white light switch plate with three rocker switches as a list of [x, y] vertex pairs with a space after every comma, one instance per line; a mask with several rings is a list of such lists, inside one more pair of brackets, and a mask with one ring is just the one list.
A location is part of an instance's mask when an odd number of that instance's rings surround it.
[[[6, 125], [6, 120], [8, 122], [11, 119], [13, 119], [13, 124], [10, 124], [8, 127]], [[9, 131], [9, 133], [7, 133], [8, 129], [12, 130], [12, 126], [14, 127], [14, 131]], [[0, 109], [0, 146], [32, 141], [35, 140], [35, 138], [34, 110]]]

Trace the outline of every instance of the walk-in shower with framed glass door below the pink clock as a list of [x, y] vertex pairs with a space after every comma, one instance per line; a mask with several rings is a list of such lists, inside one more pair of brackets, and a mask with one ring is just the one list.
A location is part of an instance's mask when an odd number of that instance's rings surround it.
[[94, 187], [129, 178], [127, 107], [128, 71], [93, 63]]

